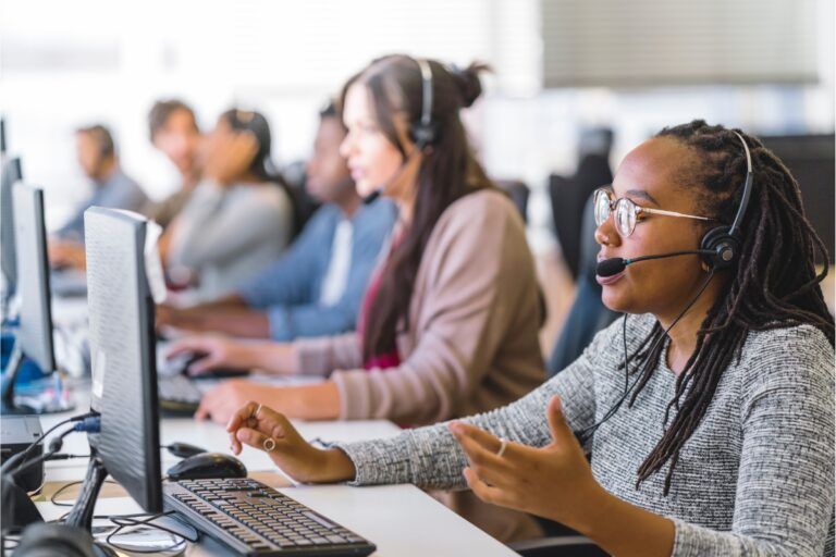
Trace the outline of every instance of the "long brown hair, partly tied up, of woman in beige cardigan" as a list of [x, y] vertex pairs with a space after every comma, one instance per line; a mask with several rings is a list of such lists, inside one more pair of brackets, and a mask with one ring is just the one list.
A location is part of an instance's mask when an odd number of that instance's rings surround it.
[[[493, 187], [474, 157], [458, 115], [459, 109], [472, 104], [481, 94], [479, 73], [487, 66], [471, 64], [459, 71], [434, 60], [428, 63], [432, 71], [432, 122], [438, 129], [438, 140], [423, 152], [411, 223], [390, 256], [374, 298], [374, 311], [367, 315], [362, 335], [366, 359], [394, 350], [397, 333], [408, 329], [415, 277], [441, 214], [463, 196]], [[345, 84], [342, 106], [354, 84], [366, 87], [378, 126], [402, 156], [407, 157], [406, 146], [395, 127], [395, 115], [406, 113], [409, 122], [420, 120], [422, 81], [418, 63], [404, 54], [374, 60]]]

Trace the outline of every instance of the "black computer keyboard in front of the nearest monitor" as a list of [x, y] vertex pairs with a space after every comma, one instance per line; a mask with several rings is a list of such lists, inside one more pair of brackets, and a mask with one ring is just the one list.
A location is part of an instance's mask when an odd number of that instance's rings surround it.
[[305, 505], [248, 478], [163, 485], [163, 504], [238, 555], [369, 555], [376, 547]]

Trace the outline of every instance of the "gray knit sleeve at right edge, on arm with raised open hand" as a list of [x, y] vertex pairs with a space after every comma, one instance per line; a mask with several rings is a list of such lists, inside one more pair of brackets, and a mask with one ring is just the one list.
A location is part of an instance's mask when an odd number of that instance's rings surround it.
[[741, 362], [748, 373], [732, 531], [675, 520], [677, 557], [824, 554], [834, 517], [833, 347], [809, 325], [783, 332], [780, 349], [753, 346]]

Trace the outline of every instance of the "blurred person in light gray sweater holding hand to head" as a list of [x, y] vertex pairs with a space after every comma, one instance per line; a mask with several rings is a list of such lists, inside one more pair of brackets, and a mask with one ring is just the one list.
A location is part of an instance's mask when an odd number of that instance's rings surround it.
[[294, 205], [270, 161], [271, 146], [258, 112], [229, 110], [209, 134], [202, 180], [161, 243], [170, 282], [189, 287], [193, 299], [229, 293], [290, 244]]

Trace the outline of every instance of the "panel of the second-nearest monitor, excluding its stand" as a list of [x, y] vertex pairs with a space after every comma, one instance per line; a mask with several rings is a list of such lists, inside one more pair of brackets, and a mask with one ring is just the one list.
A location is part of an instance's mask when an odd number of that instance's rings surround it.
[[17, 342], [23, 354], [44, 373], [56, 369], [52, 350], [52, 310], [49, 293], [47, 232], [44, 225], [44, 191], [23, 182], [14, 184], [12, 205], [15, 251], [20, 255], [21, 325]]

